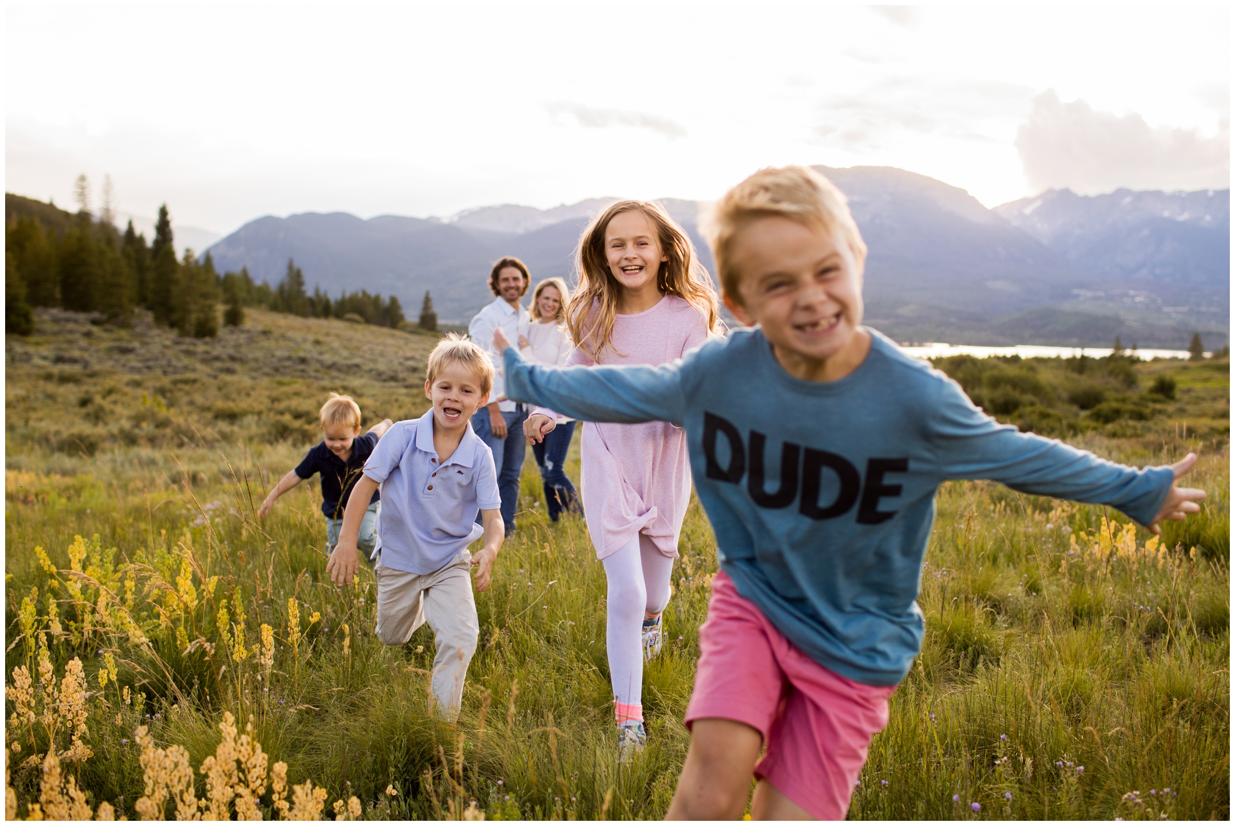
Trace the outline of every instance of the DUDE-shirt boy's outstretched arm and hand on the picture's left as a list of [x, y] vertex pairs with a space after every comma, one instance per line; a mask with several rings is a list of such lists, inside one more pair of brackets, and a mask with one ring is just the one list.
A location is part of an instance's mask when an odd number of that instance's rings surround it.
[[583, 421], [667, 421], [683, 426], [679, 364], [545, 367], [524, 359], [501, 330], [493, 335], [505, 368], [506, 396]]

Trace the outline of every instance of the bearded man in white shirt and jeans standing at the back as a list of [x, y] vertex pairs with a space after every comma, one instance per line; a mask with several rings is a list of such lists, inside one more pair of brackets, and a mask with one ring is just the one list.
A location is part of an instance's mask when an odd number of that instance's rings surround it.
[[522, 403], [506, 399], [505, 383], [501, 378], [501, 354], [493, 348], [493, 331], [501, 327], [510, 341], [526, 341], [527, 326], [531, 322], [527, 310], [519, 305], [519, 299], [527, 293], [531, 275], [527, 267], [517, 258], [501, 258], [493, 265], [489, 274], [489, 289], [498, 298], [493, 304], [472, 317], [468, 336], [483, 347], [498, 368], [493, 378], [493, 399], [472, 416], [472, 428], [475, 435], [493, 451], [493, 463], [498, 470], [498, 490], [501, 494], [501, 521], [506, 526], [506, 536], [515, 530], [515, 506], [519, 504], [519, 474], [524, 469], [524, 456], [527, 443], [524, 440], [524, 420], [527, 407]]

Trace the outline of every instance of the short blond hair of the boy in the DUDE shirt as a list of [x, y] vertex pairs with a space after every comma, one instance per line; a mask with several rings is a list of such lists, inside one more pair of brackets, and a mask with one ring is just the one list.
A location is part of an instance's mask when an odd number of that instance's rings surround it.
[[811, 230], [839, 235], [861, 272], [866, 242], [850, 215], [845, 194], [808, 167], [767, 167], [725, 193], [701, 227], [726, 299], [742, 304], [737, 289], [741, 273], [732, 263], [734, 242], [747, 225], [767, 217], [789, 219]]

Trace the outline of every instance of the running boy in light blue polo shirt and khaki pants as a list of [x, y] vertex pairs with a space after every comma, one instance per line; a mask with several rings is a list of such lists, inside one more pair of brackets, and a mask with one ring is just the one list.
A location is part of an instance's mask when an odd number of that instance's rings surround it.
[[[489, 357], [471, 341], [451, 333], [438, 342], [425, 378], [432, 409], [398, 422], [378, 442], [326, 563], [336, 584], [352, 582], [363, 505], [380, 485], [377, 635], [401, 646], [429, 622], [437, 647], [430, 709], [447, 721], [458, 715], [480, 633], [468, 572], [475, 568], [477, 590], [485, 590], [505, 536], [493, 451], [469, 423], [489, 396], [493, 374]], [[482, 536], [484, 547], [473, 557], [467, 546]]]

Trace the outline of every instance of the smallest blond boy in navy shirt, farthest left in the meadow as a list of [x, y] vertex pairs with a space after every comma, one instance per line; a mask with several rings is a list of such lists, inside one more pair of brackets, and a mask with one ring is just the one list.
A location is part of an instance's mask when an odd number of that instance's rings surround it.
[[[361, 436], [359, 405], [351, 396], [341, 396], [337, 393], [330, 394], [330, 399], [321, 406], [319, 415], [325, 438], [305, 453], [300, 464], [279, 479], [279, 484], [274, 485], [274, 490], [267, 495], [257, 515], [267, 516], [279, 496], [312, 474], [320, 473], [321, 512], [326, 515], [326, 553], [330, 553], [338, 544], [338, 528], [343, 525], [343, 510], [347, 507], [352, 488], [361, 477], [364, 461], [378, 446], [378, 440], [390, 430], [390, 420], [382, 420], [371, 427], [368, 433]], [[380, 495], [374, 491], [361, 525], [357, 544], [364, 549], [366, 559], [369, 559], [369, 554], [373, 553], [377, 544], [379, 499]]]

